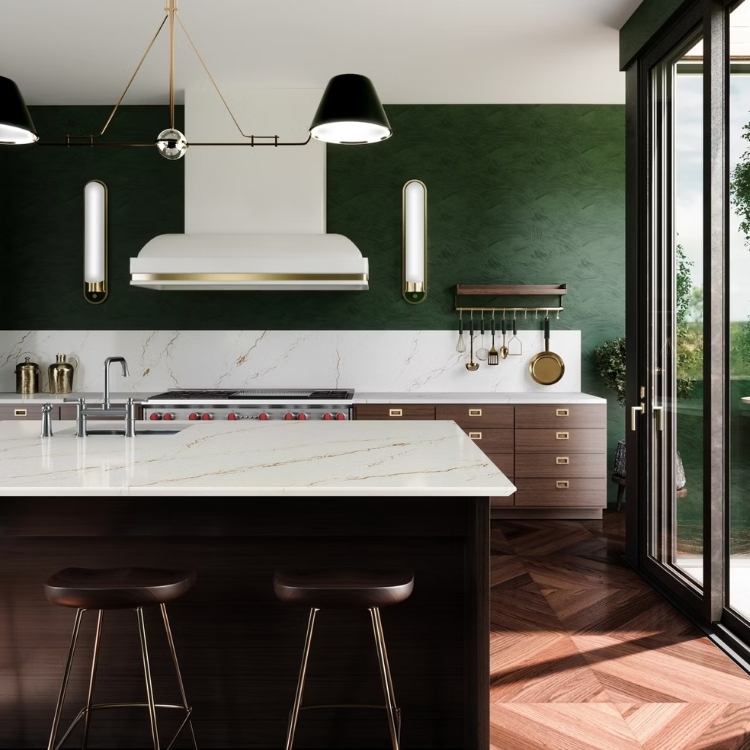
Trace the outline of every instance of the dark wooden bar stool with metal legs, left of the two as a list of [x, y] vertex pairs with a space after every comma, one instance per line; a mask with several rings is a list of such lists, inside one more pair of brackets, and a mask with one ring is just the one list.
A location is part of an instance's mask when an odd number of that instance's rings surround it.
[[[59, 604], [63, 607], [73, 607], [76, 610], [76, 618], [73, 624], [73, 635], [70, 641], [68, 651], [68, 660], [65, 664], [63, 673], [62, 686], [57, 698], [57, 707], [55, 708], [55, 718], [52, 722], [52, 732], [50, 733], [48, 750], [58, 750], [62, 747], [65, 740], [68, 739], [78, 722], [83, 719], [83, 744], [82, 750], [86, 750], [88, 741], [89, 726], [91, 723], [91, 712], [97, 709], [105, 708], [148, 708], [148, 715], [151, 722], [151, 737], [154, 744], [154, 750], [159, 750], [159, 734], [156, 723], [157, 708], [174, 708], [185, 712], [185, 718], [180, 724], [177, 733], [170, 742], [167, 750], [172, 747], [175, 740], [187, 724], [190, 728], [190, 735], [193, 741], [194, 750], [198, 750], [193, 732], [193, 724], [190, 715], [193, 709], [188, 705], [185, 696], [185, 688], [182, 684], [182, 675], [180, 665], [177, 662], [177, 652], [174, 647], [172, 630], [169, 627], [167, 618], [166, 602], [173, 601], [186, 593], [195, 583], [196, 575], [193, 571], [185, 570], [157, 570], [152, 568], [111, 568], [111, 569], [90, 569], [90, 568], [65, 568], [55, 573], [44, 584], [44, 593], [47, 599], [53, 604]], [[151, 682], [151, 666], [149, 662], [148, 646], [146, 643], [146, 626], [143, 619], [143, 608], [151, 606], [161, 608], [162, 619], [164, 620], [164, 629], [169, 642], [169, 649], [172, 652], [172, 661], [174, 662], [175, 672], [177, 674], [177, 684], [182, 697], [182, 705], [172, 705], [163, 703], [154, 703], [154, 688]], [[63, 704], [65, 703], [65, 693], [68, 689], [68, 680], [73, 665], [73, 656], [75, 655], [76, 643], [78, 642], [78, 631], [81, 627], [83, 613], [93, 609], [98, 611], [96, 621], [96, 636], [94, 638], [94, 654], [91, 660], [91, 677], [89, 679], [88, 698], [86, 706], [82, 708], [72, 724], [68, 727], [63, 738], [56, 744], [57, 730], [60, 725], [60, 715], [62, 714]], [[94, 695], [94, 682], [96, 680], [96, 669], [99, 660], [99, 646], [101, 643], [102, 624], [104, 621], [105, 610], [115, 609], [134, 609], [138, 620], [138, 634], [141, 640], [141, 654], [143, 656], [143, 671], [146, 678], [146, 703], [92, 703]]]

